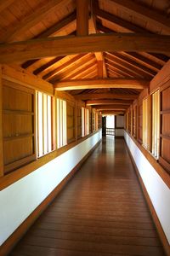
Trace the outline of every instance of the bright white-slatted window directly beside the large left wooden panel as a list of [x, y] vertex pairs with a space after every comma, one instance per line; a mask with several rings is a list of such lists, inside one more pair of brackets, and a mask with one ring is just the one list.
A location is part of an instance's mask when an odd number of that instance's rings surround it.
[[52, 97], [37, 91], [37, 157], [52, 151]]

